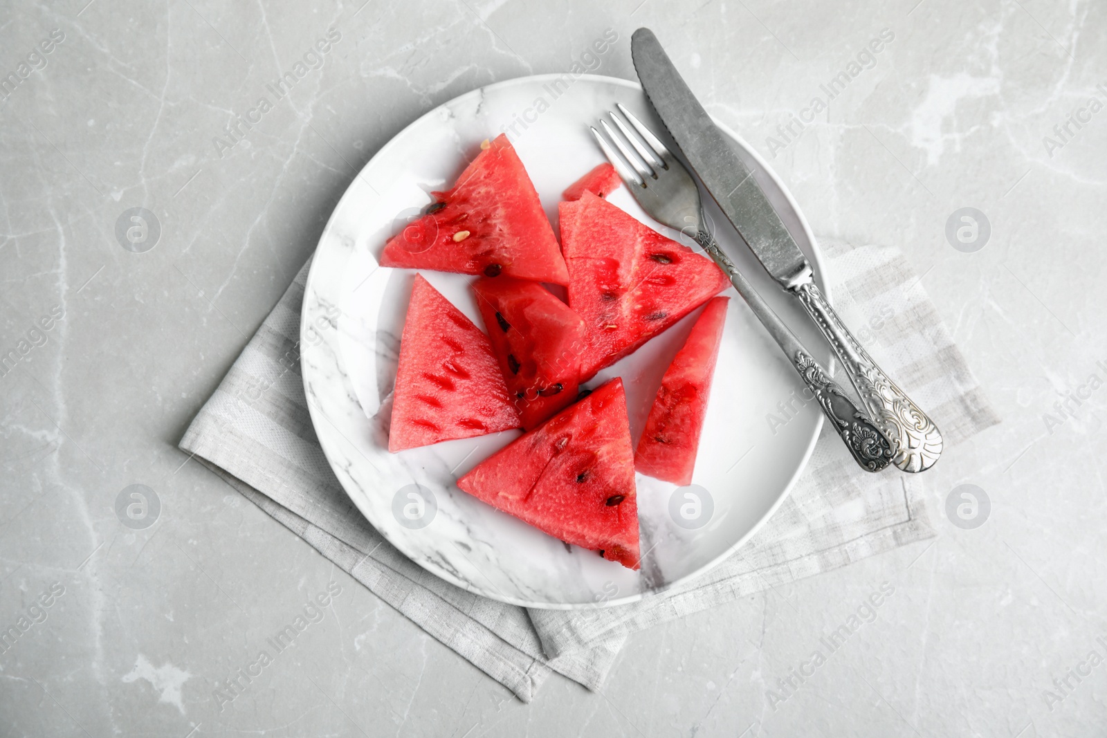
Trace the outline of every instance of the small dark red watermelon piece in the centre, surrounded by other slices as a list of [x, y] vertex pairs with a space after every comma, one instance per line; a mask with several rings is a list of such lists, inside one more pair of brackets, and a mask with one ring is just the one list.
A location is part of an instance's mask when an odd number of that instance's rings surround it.
[[473, 285], [524, 428], [577, 399], [584, 322], [538, 282], [484, 277]]

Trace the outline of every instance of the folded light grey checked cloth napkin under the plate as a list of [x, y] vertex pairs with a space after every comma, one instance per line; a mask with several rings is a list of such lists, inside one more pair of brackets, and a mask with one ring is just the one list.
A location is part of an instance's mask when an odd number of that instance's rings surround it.
[[[820, 241], [835, 306], [956, 444], [999, 422], [921, 280], [892, 248]], [[309, 261], [310, 263], [310, 261]], [[924, 475], [861, 471], [824, 430], [788, 499], [694, 581], [630, 605], [525, 610], [412, 563], [358, 512], [312, 429], [300, 377], [308, 264], [193, 420], [180, 448], [374, 594], [529, 701], [551, 672], [596, 689], [633, 632], [930, 538]]]

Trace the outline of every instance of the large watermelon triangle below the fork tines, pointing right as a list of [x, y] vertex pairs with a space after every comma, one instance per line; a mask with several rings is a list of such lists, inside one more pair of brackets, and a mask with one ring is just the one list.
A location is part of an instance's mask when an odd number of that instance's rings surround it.
[[588, 330], [581, 382], [730, 284], [715, 262], [591, 193], [561, 202], [560, 219], [569, 306]]

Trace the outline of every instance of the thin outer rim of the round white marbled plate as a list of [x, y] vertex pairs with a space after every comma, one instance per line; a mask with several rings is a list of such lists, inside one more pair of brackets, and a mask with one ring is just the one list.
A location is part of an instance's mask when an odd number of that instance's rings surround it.
[[[331, 228], [332, 228], [332, 225], [334, 224], [334, 218], [343, 209], [343, 206], [346, 205], [346, 202], [345, 202], [346, 198], [352, 197], [352, 189], [353, 189], [354, 183], [359, 178], [362, 178], [363, 181], [368, 183], [369, 181], [368, 178], [363, 177], [363, 175], [365, 174], [366, 169], [369, 169], [373, 165], [373, 163], [376, 162], [376, 159], [379, 157], [385, 156], [391, 150], [391, 148], [394, 145], [397, 145], [396, 144], [397, 139], [408, 128], [417, 125], [418, 123], [421, 123], [422, 121], [424, 121], [424, 119], [426, 119], [428, 117], [437, 115], [439, 113], [439, 111], [442, 108], [446, 107], [446, 106], [456, 105], [456, 104], [461, 103], [462, 101], [464, 101], [467, 97], [483, 96], [489, 90], [499, 90], [499, 89], [504, 89], [504, 87], [510, 87], [510, 86], [523, 85], [523, 84], [528, 84], [528, 83], [548, 82], [550, 80], [558, 80], [558, 79], [560, 79], [562, 76], [563, 76], [563, 73], [530, 74], [530, 75], [525, 75], [525, 76], [511, 77], [510, 80], [501, 80], [499, 82], [494, 82], [492, 84], [482, 85], [479, 87], [474, 87], [473, 90], [464, 92], [464, 93], [462, 93], [459, 95], [456, 95], [456, 96], [454, 96], [454, 97], [452, 97], [452, 98], [449, 98], [449, 100], [447, 100], [447, 101], [445, 101], [445, 102], [443, 102], [443, 103], [441, 103], [438, 105], [435, 105], [430, 111], [423, 113], [422, 115], [420, 115], [415, 119], [411, 121], [403, 128], [401, 128], [400, 131], [397, 131], [392, 136], [392, 138], [390, 138], [383, 146], [381, 146], [379, 149], [376, 149], [376, 152], [373, 154], [372, 157], [370, 157], [370, 159], [365, 163], [365, 165], [362, 166], [362, 168], [358, 170], [358, 173], [353, 176], [353, 178], [351, 178], [350, 184], [345, 188], [345, 191], [342, 193], [342, 197], [339, 198], [338, 202], [335, 202], [335, 205], [334, 205], [334, 208], [331, 210], [331, 215], [327, 219], [327, 225], [323, 227], [323, 230], [322, 230], [322, 232], [319, 236], [319, 241], [315, 243], [315, 250], [312, 251], [311, 267], [308, 270], [308, 276], [307, 276], [307, 279], [304, 281], [304, 298], [307, 298], [307, 295], [310, 293], [310, 291], [311, 291], [310, 288], [311, 288], [312, 283], [315, 281], [315, 276], [317, 276], [315, 274], [315, 270], [320, 268], [321, 261], [318, 260], [318, 259], [315, 259], [315, 254], [318, 253], [318, 251], [319, 251], [320, 246], [322, 245], [322, 242], [331, 235]], [[622, 77], [614, 77], [614, 76], [609, 76], [609, 75], [604, 75], [604, 74], [588, 74], [588, 73], [581, 74], [580, 76], [578, 76], [577, 80], [576, 80], [576, 82], [579, 82], [581, 80], [586, 80], [588, 82], [593, 82], [593, 83], [614, 84], [617, 86], [622, 86], [622, 87], [625, 87], [628, 90], [633, 90], [633, 91], [640, 93], [642, 95], [643, 100], [646, 101], [646, 103], [649, 102], [649, 100], [645, 97], [645, 92], [642, 90], [642, 85], [639, 84], [638, 82], [632, 81], [632, 80], [625, 80], [625, 79], [622, 79]], [[732, 141], [734, 141], [735, 143], [737, 143], [738, 146], [741, 146], [764, 169], [765, 174], [768, 175], [768, 177], [773, 180], [773, 183], [779, 188], [780, 194], [784, 196], [785, 200], [787, 200], [788, 205], [792, 207], [793, 212], [796, 214], [796, 218], [799, 221], [799, 227], [801, 228], [801, 230], [804, 231], [804, 235], [807, 237], [808, 241], [811, 245], [811, 253], [810, 254], [805, 254], [805, 256], [807, 256], [813, 261], [811, 266], [813, 266], [813, 271], [814, 271], [814, 279], [818, 283], [820, 290], [823, 291], [823, 294], [827, 298], [827, 300], [832, 300], [830, 288], [829, 288], [828, 284], [826, 284], [826, 280], [825, 280], [826, 264], [824, 263], [823, 251], [821, 251], [821, 249], [820, 249], [820, 247], [818, 245], [818, 241], [815, 238], [815, 233], [811, 231], [810, 225], [807, 222], [807, 217], [804, 215], [803, 210], [799, 208], [799, 205], [796, 202], [796, 199], [793, 197], [792, 191], [788, 189], [788, 187], [785, 185], [785, 183], [780, 179], [780, 177], [776, 174], [776, 171], [768, 165], [768, 163], [764, 159], [764, 157], [762, 157], [762, 155], [755, 148], [753, 148], [746, 142], [745, 138], [743, 138], [741, 135], [738, 135], [735, 131], [733, 131], [725, 123], [722, 123], [715, 116], [711, 115], [710, 112], [708, 112], [708, 116], [711, 116], [711, 119], [715, 123], [716, 126], [718, 126], [718, 128], [726, 136], [728, 136]], [[310, 342], [307, 340], [308, 339], [307, 334], [308, 334], [308, 331], [309, 331], [309, 329], [311, 326], [311, 320], [310, 319], [314, 318], [314, 314], [312, 314], [312, 315], [309, 316], [309, 308], [310, 308], [310, 305], [311, 305], [311, 303], [307, 299], [304, 299], [303, 304], [300, 306], [300, 332], [299, 332], [299, 340], [300, 340], [300, 345], [301, 346], [311, 345]], [[322, 412], [322, 408], [317, 407], [315, 404], [313, 404], [313, 403], [310, 402], [310, 394], [308, 392], [308, 381], [309, 380], [308, 380], [308, 367], [307, 367], [307, 358], [306, 358], [306, 354], [308, 352], [302, 351], [302, 350], [300, 352], [300, 375], [301, 375], [301, 381], [304, 384], [306, 399], [309, 401], [307, 403], [307, 405], [308, 405], [308, 414], [311, 417], [312, 429], [315, 432], [317, 438], [319, 438], [320, 449], [323, 451], [323, 456], [327, 459], [328, 465], [333, 469], [335, 467], [335, 462], [331, 458], [331, 454], [330, 454], [330, 451], [327, 448], [327, 444], [324, 444], [323, 440], [322, 440], [323, 434], [320, 433], [321, 424], [319, 423], [319, 419], [317, 418], [317, 413]], [[829, 373], [832, 375], [834, 371], [835, 371], [835, 362], [830, 361], [829, 366], [827, 368], [828, 368]], [[819, 436], [820, 436], [820, 434], [823, 432], [823, 424], [824, 424], [824, 417], [823, 417], [823, 414], [820, 413], [818, 415], [818, 417], [816, 418], [815, 427], [814, 427], [814, 429], [811, 432], [811, 437], [810, 437], [810, 439], [807, 443], [807, 448], [804, 450], [804, 455], [803, 455], [799, 464], [796, 466], [796, 469], [793, 472], [792, 477], [788, 479], [787, 484], [784, 486], [784, 489], [782, 490], [780, 495], [773, 502], [773, 505], [769, 506], [768, 510], [766, 510], [766, 512], [749, 528], [749, 530], [747, 530], [742, 537], [739, 537], [738, 540], [735, 541], [732, 545], [730, 545], [725, 551], [723, 551], [722, 553], [720, 553], [717, 557], [715, 557], [714, 559], [712, 559], [707, 563], [705, 563], [702, 567], [700, 567], [700, 569], [695, 570], [694, 572], [685, 574], [684, 576], [682, 576], [682, 578], [680, 578], [677, 580], [674, 580], [672, 582], [668, 582], [666, 584], [663, 584], [662, 586], [659, 586], [659, 588], [655, 588], [655, 589], [651, 589], [651, 590], [645, 591], [645, 592], [642, 592], [642, 591], [634, 592], [634, 593], [628, 594], [627, 596], [617, 597], [617, 599], [610, 599], [610, 600], [603, 600], [603, 601], [600, 601], [600, 602], [584, 602], [584, 603], [534, 602], [534, 601], [523, 600], [523, 599], [519, 599], [519, 597], [511, 597], [511, 596], [504, 595], [504, 594], [497, 593], [497, 592], [489, 592], [489, 591], [486, 591], [484, 589], [480, 589], [478, 585], [476, 585], [473, 582], [468, 582], [468, 581], [462, 580], [462, 579], [459, 579], [457, 576], [454, 576], [448, 571], [446, 571], [444, 569], [441, 569], [441, 568], [434, 567], [432, 564], [432, 562], [424, 561], [424, 560], [421, 560], [421, 559], [418, 559], [416, 557], [413, 557], [405, 549], [405, 547], [402, 544], [402, 542], [394, 540], [392, 537], [387, 536], [384, 531], [382, 531], [380, 528], [377, 528], [373, 523], [373, 519], [370, 517], [370, 514], [365, 511], [365, 509], [360, 503], [358, 497], [355, 495], [352, 495], [350, 492], [350, 490], [346, 488], [346, 485], [343, 481], [342, 477], [340, 475], [335, 475], [335, 477], [338, 478], [338, 481], [339, 481], [340, 486], [342, 487], [342, 491], [354, 503], [354, 507], [358, 508], [359, 513], [365, 519], [365, 521], [369, 522], [371, 526], [373, 526], [373, 530], [375, 530], [379, 536], [381, 536], [391, 545], [393, 545], [397, 551], [400, 551], [408, 561], [415, 563], [416, 565], [418, 565], [423, 570], [430, 572], [431, 574], [434, 574], [435, 576], [438, 576], [439, 579], [442, 579], [442, 580], [444, 580], [446, 582], [449, 582], [451, 584], [454, 584], [455, 586], [458, 586], [458, 588], [465, 590], [466, 592], [472, 592], [474, 594], [478, 594], [480, 596], [485, 596], [485, 597], [488, 597], [490, 600], [495, 600], [495, 601], [498, 601], [498, 602], [504, 602], [506, 604], [517, 605], [517, 606], [521, 606], [521, 607], [534, 607], [534, 609], [538, 609], [538, 610], [572, 611], [572, 610], [584, 610], [584, 609], [608, 609], [608, 607], [614, 607], [614, 606], [618, 606], [618, 605], [627, 605], [627, 604], [632, 604], [632, 603], [635, 603], [635, 602], [641, 602], [642, 600], [646, 600], [646, 599], [650, 599], [650, 597], [662, 595], [662, 594], [664, 594], [664, 593], [673, 590], [676, 586], [680, 586], [682, 584], [686, 584], [687, 582], [690, 582], [692, 580], [695, 580], [696, 578], [700, 578], [700, 576], [704, 575], [705, 573], [707, 573], [708, 571], [711, 571], [712, 569], [714, 569], [715, 567], [717, 567], [725, 559], [728, 559], [731, 555], [733, 555], [746, 542], [748, 542], [749, 539], [753, 536], [755, 536], [762, 529], [762, 527], [766, 522], [768, 522], [768, 520], [774, 514], [776, 514], [777, 510], [780, 508], [780, 506], [784, 503], [784, 501], [788, 498], [789, 495], [792, 495], [792, 490], [795, 488], [796, 482], [799, 480], [799, 475], [801, 475], [803, 471], [807, 468], [807, 464], [810, 461], [811, 454], [815, 451], [815, 446], [818, 443]], [[346, 443], [351, 443], [351, 441], [348, 440]]]

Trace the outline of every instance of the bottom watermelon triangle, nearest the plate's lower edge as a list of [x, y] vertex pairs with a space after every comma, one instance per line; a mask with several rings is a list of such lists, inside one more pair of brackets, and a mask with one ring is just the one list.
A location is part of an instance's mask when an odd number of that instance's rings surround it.
[[633, 450], [620, 378], [516, 438], [457, 486], [567, 543], [639, 568]]

